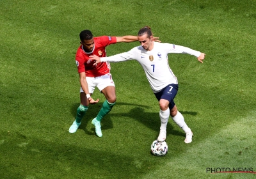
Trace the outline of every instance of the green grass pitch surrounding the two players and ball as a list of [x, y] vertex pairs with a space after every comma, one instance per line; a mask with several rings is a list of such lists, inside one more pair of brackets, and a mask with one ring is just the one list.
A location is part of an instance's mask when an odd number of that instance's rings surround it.
[[[256, 1], [0, 1], [0, 178], [256, 178]], [[95, 89], [81, 127], [75, 63], [79, 33], [137, 35], [150, 26], [161, 42], [204, 52], [170, 54], [179, 80], [175, 103], [193, 142], [169, 119], [168, 154], [155, 157], [159, 105], [136, 61], [111, 63], [116, 105], [90, 121], [104, 95]], [[107, 47], [111, 56], [140, 45]]]

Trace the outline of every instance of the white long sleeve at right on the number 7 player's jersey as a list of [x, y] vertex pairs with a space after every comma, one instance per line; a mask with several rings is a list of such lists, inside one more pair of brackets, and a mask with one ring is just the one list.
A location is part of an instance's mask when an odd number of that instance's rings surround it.
[[190, 54], [198, 58], [200, 56], [201, 52], [195, 51], [193, 49], [189, 49], [188, 47], [184, 47], [181, 45], [175, 45], [175, 44], [170, 44], [170, 43], [164, 43], [166, 46], [166, 51], [168, 54], [174, 53], [174, 54]]

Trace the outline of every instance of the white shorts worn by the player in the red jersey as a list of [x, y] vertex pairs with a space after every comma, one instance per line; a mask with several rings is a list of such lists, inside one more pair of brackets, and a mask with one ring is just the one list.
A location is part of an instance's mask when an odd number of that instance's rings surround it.
[[[115, 86], [115, 83], [112, 79], [111, 74], [102, 75], [99, 77], [86, 77], [86, 81], [89, 88], [89, 93], [93, 93], [95, 87], [101, 91], [102, 89], [106, 88], [107, 86]], [[80, 88], [80, 93], [83, 93], [82, 87]]]

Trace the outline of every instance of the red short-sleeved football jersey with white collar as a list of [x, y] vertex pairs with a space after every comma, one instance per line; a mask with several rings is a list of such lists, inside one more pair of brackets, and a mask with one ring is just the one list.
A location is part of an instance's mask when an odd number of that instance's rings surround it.
[[101, 75], [110, 73], [110, 64], [108, 62], [101, 62], [93, 65], [93, 61], [89, 60], [89, 56], [97, 55], [99, 57], [106, 57], [106, 47], [110, 44], [116, 43], [115, 36], [98, 36], [94, 37], [93, 51], [88, 53], [83, 50], [80, 45], [76, 52], [76, 65], [78, 73], [85, 72], [87, 77], [99, 77]]

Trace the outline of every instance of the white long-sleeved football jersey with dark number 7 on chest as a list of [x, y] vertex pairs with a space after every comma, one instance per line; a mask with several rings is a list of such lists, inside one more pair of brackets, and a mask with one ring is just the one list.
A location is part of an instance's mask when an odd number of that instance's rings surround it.
[[140, 45], [128, 52], [100, 58], [100, 61], [118, 62], [135, 59], [144, 69], [148, 82], [154, 93], [156, 93], [168, 84], [178, 84], [177, 77], [173, 74], [168, 63], [168, 54], [170, 53], [191, 54], [196, 58], [201, 54], [201, 52], [194, 51], [188, 47], [154, 42], [152, 51], [146, 51]]

